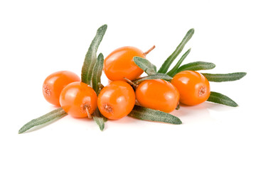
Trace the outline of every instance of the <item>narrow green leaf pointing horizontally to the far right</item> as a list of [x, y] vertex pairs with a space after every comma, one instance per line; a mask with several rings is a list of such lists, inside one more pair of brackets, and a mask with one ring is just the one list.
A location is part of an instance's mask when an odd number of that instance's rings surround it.
[[245, 77], [246, 72], [235, 72], [235, 73], [229, 73], [229, 74], [210, 74], [210, 73], [202, 73], [203, 76], [208, 79], [208, 81], [214, 81], [214, 82], [222, 82], [222, 81], [235, 81], [238, 79], [242, 79], [242, 77]]

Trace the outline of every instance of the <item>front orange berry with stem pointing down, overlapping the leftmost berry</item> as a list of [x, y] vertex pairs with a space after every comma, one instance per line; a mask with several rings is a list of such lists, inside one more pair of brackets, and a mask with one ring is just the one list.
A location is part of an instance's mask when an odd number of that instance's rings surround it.
[[73, 82], [61, 91], [60, 106], [75, 118], [91, 118], [97, 108], [97, 94], [87, 84]]

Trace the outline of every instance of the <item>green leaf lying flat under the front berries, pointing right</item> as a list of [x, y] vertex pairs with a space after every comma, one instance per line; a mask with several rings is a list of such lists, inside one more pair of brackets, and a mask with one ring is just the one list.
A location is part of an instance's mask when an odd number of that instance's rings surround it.
[[156, 111], [150, 108], [144, 108], [142, 106], [134, 106], [132, 112], [129, 113], [129, 116], [141, 120], [150, 120], [176, 125], [182, 123], [181, 120], [174, 115], [162, 111]]

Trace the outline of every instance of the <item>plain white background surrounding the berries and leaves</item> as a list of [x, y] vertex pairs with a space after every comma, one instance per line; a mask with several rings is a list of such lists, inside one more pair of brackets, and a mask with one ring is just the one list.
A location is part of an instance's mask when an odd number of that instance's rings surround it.
[[[253, 1], [1, 1], [0, 169], [256, 169], [255, 16]], [[59, 70], [80, 75], [105, 23], [98, 52], [156, 45], [147, 58], [158, 68], [195, 28], [184, 63], [217, 65], [205, 72], [247, 72], [240, 81], [211, 84], [239, 107], [181, 107], [173, 114], [182, 125], [109, 120], [103, 132], [92, 120], [66, 116], [18, 135], [23, 124], [54, 109], [43, 98], [43, 80]]]

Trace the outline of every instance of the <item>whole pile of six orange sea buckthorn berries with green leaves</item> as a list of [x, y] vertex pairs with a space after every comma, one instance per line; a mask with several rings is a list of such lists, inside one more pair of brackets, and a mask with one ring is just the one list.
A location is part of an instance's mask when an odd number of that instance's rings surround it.
[[[85, 55], [81, 79], [73, 72], [61, 71], [50, 74], [44, 81], [43, 96], [49, 103], [60, 108], [26, 123], [19, 133], [62, 118], [67, 113], [75, 118], [93, 118], [100, 130], [103, 130], [106, 118], [118, 120], [126, 115], [142, 120], [181, 124], [179, 118], [170, 114], [179, 108], [180, 103], [194, 106], [210, 101], [226, 106], [238, 106], [228, 96], [210, 91], [209, 81], [235, 81], [245, 77], [245, 72], [196, 72], [213, 69], [215, 64], [210, 62], [191, 62], [181, 66], [191, 49], [187, 50], [168, 72], [171, 63], [191, 39], [193, 28], [188, 30], [176, 50], [158, 71], [154, 64], [146, 60], [146, 55], [154, 47], [146, 52], [136, 47], [120, 47], [111, 52], [105, 60], [102, 53], [97, 57], [97, 48], [106, 30], [107, 25], [97, 30]], [[100, 82], [103, 71], [110, 80], [107, 86]], [[140, 77], [143, 72], [148, 76]]]

